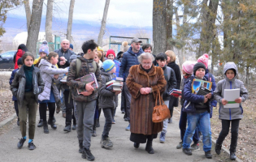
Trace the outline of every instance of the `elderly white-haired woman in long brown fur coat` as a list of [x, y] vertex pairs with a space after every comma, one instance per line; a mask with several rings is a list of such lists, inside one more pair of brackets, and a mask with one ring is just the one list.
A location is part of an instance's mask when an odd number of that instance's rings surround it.
[[145, 151], [154, 154], [152, 142], [157, 138], [158, 132], [163, 130], [163, 122], [152, 122], [152, 113], [157, 92], [159, 90], [162, 95], [167, 82], [162, 68], [153, 65], [152, 54], [142, 53], [138, 60], [141, 64], [132, 66], [126, 79], [132, 95], [130, 140], [136, 148], [140, 143], [146, 143]]

